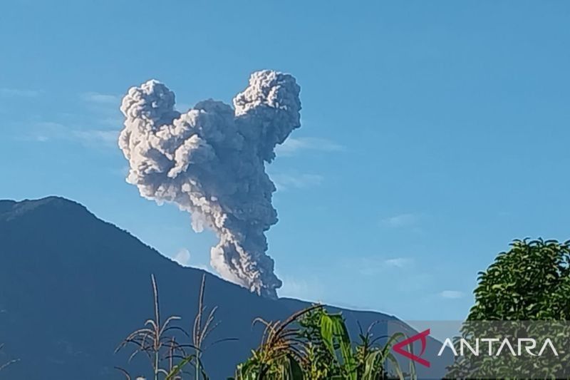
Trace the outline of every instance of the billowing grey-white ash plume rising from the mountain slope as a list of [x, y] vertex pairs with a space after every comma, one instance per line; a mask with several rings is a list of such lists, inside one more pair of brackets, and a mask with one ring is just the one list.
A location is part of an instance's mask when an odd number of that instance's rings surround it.
[[212, 267], [266, 297], [276, 297], [281, 281], [266, 255], [265, 232], [277, 212], [265, 163], [301, 126], [299, 91], [289, 74], [257, 71], [234, 108], [209, 99], [180, 113], [172, 91], [147, 81], [130, 88], [120, 108], [127, 182], [143, 197], [190, 212], [195, 231], [214, 230], [219, 243], [211, 250]]

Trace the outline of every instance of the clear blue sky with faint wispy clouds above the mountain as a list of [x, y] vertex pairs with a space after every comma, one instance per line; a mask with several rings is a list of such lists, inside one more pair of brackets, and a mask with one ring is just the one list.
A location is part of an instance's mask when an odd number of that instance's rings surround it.
[[512, 239], [570, 238], [569, 24], [566, 1], [4, 1], [0, 198], [70, 197], [204, 267], [216, 238], [125, 183], [120, 98], [229, 102], [286, 71], [281, 295], [460, 319]]

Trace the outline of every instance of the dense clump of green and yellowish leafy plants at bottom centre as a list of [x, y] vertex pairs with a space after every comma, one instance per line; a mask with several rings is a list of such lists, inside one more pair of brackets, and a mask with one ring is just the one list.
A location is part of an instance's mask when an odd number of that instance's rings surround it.
[[[398, 361], [390, 353], [404, 334], [373, 339], [373, 325], [359, 334], [354, 345], [341, 314], [329, 314], [316, 305], [293, 314], [284, 322], [264, 322], [262, 342], [252, 356], [238, 366], [236, 380], [388, 379], [386, 364], [392, 364], [398, 379], [404, 379]], [[378, 344], [387, 339], [384, 345]], [[410, 362], [410, 378], [415, 367]]]

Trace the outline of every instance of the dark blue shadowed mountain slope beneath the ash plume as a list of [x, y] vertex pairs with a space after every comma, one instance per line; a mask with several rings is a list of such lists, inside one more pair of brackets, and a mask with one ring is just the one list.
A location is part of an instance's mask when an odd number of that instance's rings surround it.
[[[309, 306], [296, 299], [264, 299], [202, 270], [181, 267], [77, 202], [0, 200], [0, 365], [19, 359], [0, 371], [0, 379], [124, 379], [114, 366], [143, 374], [145, 358], [128, 364], [130, 351], [114, 351], [152, 318], [151, 274], [162, 316], [178, 315], [182, 327], [190, 329], [204, 273], [205, 304], [218, 307], [221, 322], [212, 341], [237, 338], [205, 352], [214, 380], [232, 376], [259, 344], [255, 318], [282, 320]], [[353, 329], [357, 321], [368, 326], [395, 320], [341, 311]], [[381, 332], [382, 324], [376, 328]]]

